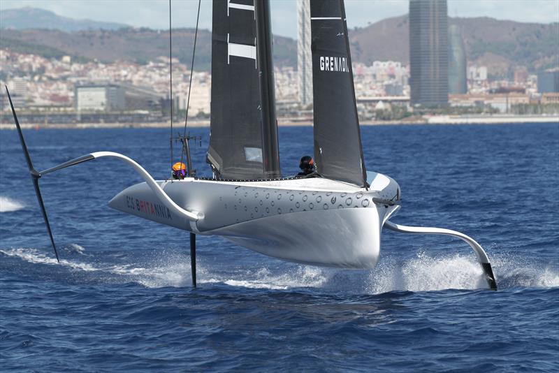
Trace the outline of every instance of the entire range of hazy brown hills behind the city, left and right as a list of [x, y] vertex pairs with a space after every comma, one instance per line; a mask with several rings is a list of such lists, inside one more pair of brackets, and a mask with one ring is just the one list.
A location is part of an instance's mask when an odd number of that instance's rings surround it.
[[[493, 77], [511, 75], [515, 66], [531, 72], [559, 66], [559, 23], [535, 24], [495, 20], [488, 17], [449, 18], [460, 27], [467, 59], [488, 66]], [[408, 64], [408, 17], [402, 15], [376, 22], [368, 27], [349, 30], [353, 60], [371, 64], [375, 60], [393, 60]], [[211, 33], [198, 31], [196, 66], [209, 69]], [[194, 29], [173, 29], [173, 56], [185, 64], [191, 58]], [[100, 61], [128, 60], [144, 63], [168, 55], [168, 33], [152, 29], [3, 29], [0, 48], [61, 57]], [[274, 37], [277, 66], [297, 65], [297, 43], [291, 38]]]

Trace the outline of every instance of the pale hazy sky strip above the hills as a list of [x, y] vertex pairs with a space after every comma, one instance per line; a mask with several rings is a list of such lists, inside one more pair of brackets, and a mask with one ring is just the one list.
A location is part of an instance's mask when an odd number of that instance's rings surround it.
[[[275, 34], [296, 38], [296, 0], [272, 0]], [[1, 0], [0, 8], [32, 6], [71, 18], [168, 29], [168, 0]], [[407, 13], [407, 0], [346, 0], [349, 27]], [[559, 0], [448, 0], [451, 17], [487, 16], [518, 22], [558, 22]], [[173, 0], [173, 27], [194, 27], [196, 0]], [[210, 29], [212, 2], [202, 1], [200, 25]]]

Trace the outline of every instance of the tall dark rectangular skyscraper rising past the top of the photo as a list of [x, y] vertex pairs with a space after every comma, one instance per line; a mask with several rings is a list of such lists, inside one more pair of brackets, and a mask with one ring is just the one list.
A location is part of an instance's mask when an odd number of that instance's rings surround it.
[[449, 101], [447, 0], [409, 0], [410, 101], [440, 106]]

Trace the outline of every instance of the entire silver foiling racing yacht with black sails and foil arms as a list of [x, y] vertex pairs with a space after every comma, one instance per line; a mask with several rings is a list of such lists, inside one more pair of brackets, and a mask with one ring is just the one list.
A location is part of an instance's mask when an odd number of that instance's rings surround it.
[[400, 186], [365, 169], [343, 0], [310, 0], [314, 177], [282, 177], [279, 168], [269, 0], [214, 0], [212, 17], [207, 152], [212, 178], [189, 169], [182, 180], [154, 180], [136, 161], [115, 152], [94, 152], [37, 171], [10, 98], [55, 253], [38, 179], [108, 156], [128, 163], [145, 180], [118, 193], [109, 206], [190, 232], [194, 286], [195, 235], [219, 235], [285, 261], [364, 269], [375, 267], [388, 228], [461, 238], [477, 254], [489, 287], [497, 288], [484, 249], [471, 237], [389, 221], [400, 209]]

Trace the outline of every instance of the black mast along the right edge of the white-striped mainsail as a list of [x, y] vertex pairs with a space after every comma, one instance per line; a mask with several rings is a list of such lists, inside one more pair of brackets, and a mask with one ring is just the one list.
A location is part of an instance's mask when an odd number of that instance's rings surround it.
[[254, 1], [256, 17], [256, 61], [259, 68], [259, 89], [262, 112], [262, 155], [264, 175], [273, 179], [281, 177], [279, 171], [279, 147], [277, 142], [277, 118], [275, 115], [275, 81], [272, 59], [272, 30], [270, 1]]

